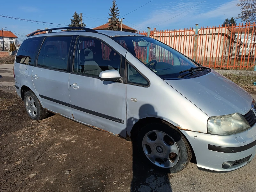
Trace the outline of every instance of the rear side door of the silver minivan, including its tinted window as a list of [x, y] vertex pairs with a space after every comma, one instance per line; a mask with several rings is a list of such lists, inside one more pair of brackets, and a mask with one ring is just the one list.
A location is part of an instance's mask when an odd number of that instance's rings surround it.
[[32, 72], [36, 92], [48, 110], [72, 118], [68, 59], [72, 36], [47, 36]]

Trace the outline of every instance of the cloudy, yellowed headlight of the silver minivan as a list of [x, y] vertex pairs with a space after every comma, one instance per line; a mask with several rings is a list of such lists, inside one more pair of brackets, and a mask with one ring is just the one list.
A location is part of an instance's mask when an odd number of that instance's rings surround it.
[[240, 113], [210, 117], [207, 121], [207, 132], [209, 134], [230, 135], [249, 128], [251, 126]]

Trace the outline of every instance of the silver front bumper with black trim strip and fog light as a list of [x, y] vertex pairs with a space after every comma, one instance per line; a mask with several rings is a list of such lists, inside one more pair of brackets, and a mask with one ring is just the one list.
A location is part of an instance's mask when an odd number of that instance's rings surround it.
[[180, 130], [188, 139], [199, 169], [229, 172], [252, 161], [256, 153], [256, 124], [233, 135], [211, 135]]

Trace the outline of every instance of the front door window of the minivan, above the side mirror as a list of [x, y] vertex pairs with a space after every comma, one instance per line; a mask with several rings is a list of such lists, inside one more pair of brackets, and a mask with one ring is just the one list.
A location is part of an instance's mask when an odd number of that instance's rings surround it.
[[101, 71], [119, 71], [121, 55], [104, 42], [90, 37], [78, 37], [73, 70], [89, 76], [100, 75]]

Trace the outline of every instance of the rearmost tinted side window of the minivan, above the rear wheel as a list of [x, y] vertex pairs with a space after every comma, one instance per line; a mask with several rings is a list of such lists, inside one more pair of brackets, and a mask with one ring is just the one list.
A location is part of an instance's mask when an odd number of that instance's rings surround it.
[[34, 37], [26, 39], [20, 45], [15, 61], [25, 65], [34, 65], [43, 38], [44, 37]]

